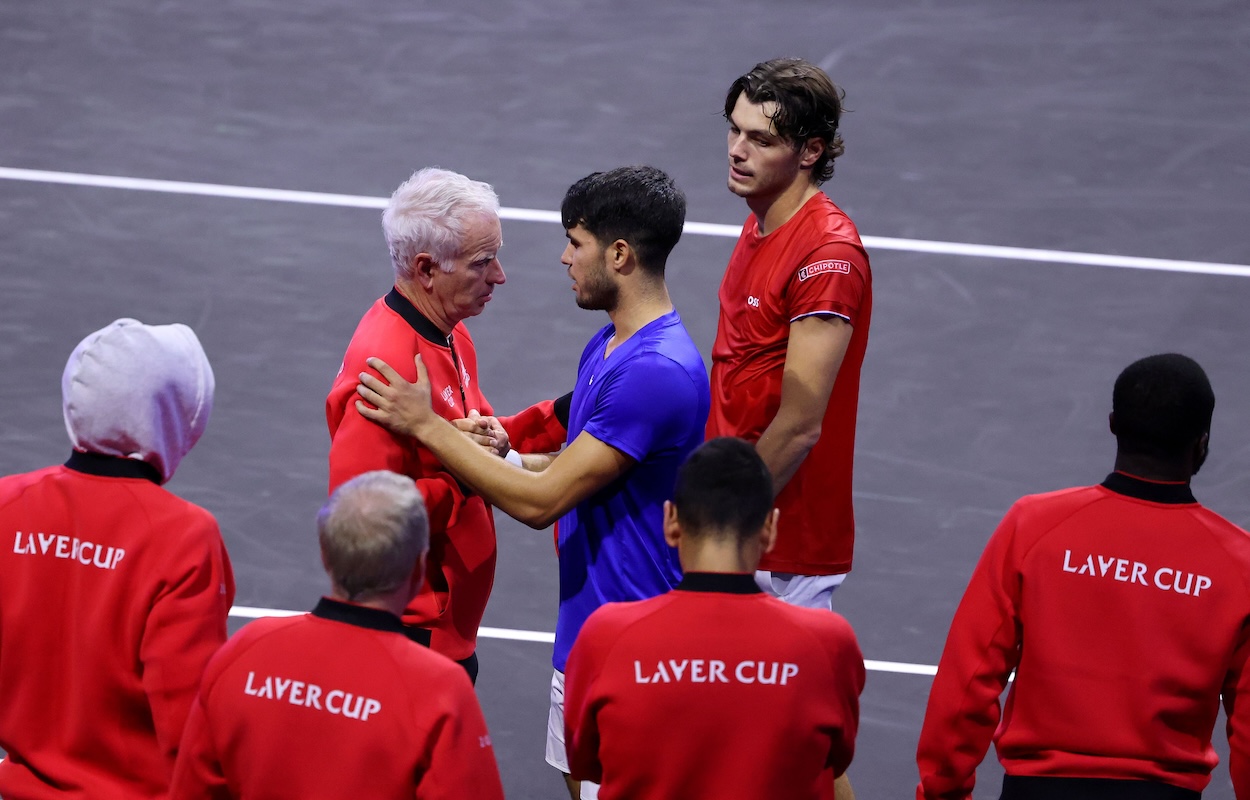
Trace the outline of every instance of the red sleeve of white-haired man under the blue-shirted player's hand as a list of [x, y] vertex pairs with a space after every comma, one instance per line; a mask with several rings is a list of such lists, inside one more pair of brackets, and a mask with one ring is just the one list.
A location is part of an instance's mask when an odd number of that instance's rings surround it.
[[440, 534], [455, 524], [464, 504], [460, 484], [444, 471], [422, 475], [420, 460], [410, 455], [389, 430], [360, 416], [352, 401], [330, 439], [330, 492], [356, 475], [374, 470], [389, 470], [414, 479], [425, 499], [431, 534]]

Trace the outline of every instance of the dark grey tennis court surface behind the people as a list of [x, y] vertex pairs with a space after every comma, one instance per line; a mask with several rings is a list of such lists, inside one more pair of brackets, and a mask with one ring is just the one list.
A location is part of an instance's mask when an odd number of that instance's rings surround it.
[[[390, 286], [381, 199], [440, 165], [509, 206], [508, 282], [470, 328], [510, 411], [568, 391], [605, 321], [574, 305], [550, 211], [590, 171], [660, 166], [710, 224], [669, 268], [706, 354], [725, 226], [746, 216], [724, 91], [809, 58], [848, 91], [826, 191], [875, 272], [856, 568], [835, 598], [874, 662], [850, 775], [865, 800], [908, 796], [925, 672], [985, 539], [1018, 496], [1109, 471], [1124, 365], [1206, 368], [1195, 494], [1250, 526], [1248, 41], [1250, 6], [1201, 0], [8, 0], [0, 471], [66, 456], [60, 371], [86, 332], [188, 322], [218, 396], [171, 488], [220, 520], [240, 606], [311, 608], [322, 402]], [[551, 536], [499, 519], [479, 695], [508, 795], [556, 799]], [[1205, 796], [1232, 796], [1222, 765]]]

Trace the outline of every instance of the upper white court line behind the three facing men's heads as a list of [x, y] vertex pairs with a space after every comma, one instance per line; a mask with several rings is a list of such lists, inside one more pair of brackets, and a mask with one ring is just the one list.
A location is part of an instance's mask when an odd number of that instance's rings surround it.
[[[180, 195], [232, 198], [236, 200], [270, 200], [275, 202], [306, 202], [355, 209], [385, 209], [386, 198], [362, 195], [338, 195], [321, 191], [291, 191], [286, 189], [258, 189], [252, 186], [226, 186], [221, 184], [192, 184], [176, 180], [151, 180], [146, 178], [120, 178], [115, 175], [88, 175], [82, 172], [52, 172], [0, 166], [0, 180], [25, 180], [40, 184], [68, 184], [71, 186], [99, 186], [105, 189], [130, 189], [136, 191], [164, 191]], [[505, 220], [524, 222], [560, 222], [556, 211], [539, 209], [500, 209]], [[686, 232], [700, 236], [726, 236], [736, 239], [740, 225], [716, 222], [686, 222]], [[876, 250], [902, 250], [932, 255], [959, 255], [978, 259], [1002, 259], [1009, 261], [1045, 261], [1049, 264], [1078, 264], [1084, 266], [1111, 266], [1136, 270], [1162, 270], [1168, 272], [1192, 272], [1200, 275], [1229, 275], [1250, 278], [1250, 266], [1244, 264], [1216, 264], [1211, 261], [1178, 261], [1172, 259], [1148, 259], [1099, 252], [1072, 252], [1068, 250], [1039, 250], [1034, 248], [1008, 248], [1001, 245], [976, 245], [960, 241], [934, 241], [929, 239], [899, 239], [894, 236], [862, 236], [864, 245]]]

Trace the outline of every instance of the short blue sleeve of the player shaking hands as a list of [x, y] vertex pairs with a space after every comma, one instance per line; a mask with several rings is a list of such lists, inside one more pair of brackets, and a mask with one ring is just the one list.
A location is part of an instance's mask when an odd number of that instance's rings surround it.
[[644, 352], [611, 371], [584, 430], [635, 461], [702, 430], [690, 374], [671, 359]]

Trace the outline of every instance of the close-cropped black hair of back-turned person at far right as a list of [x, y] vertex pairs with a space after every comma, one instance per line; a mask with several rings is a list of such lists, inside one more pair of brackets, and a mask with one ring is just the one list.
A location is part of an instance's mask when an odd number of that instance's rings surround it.
[[1215, 392], [1194, 359], [1176, 352], [1134, 361], [1115, 379], [1111, 411], [1124, 452], [1184, 458], [1211, 430]]

